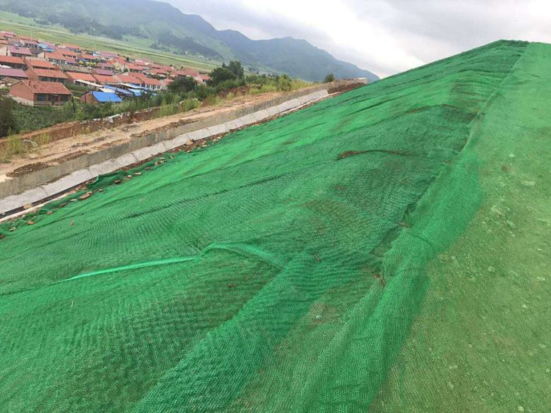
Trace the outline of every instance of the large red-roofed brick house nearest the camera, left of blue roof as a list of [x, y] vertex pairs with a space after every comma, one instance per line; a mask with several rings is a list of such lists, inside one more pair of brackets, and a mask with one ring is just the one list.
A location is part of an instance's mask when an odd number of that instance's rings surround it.
[[46, 106], [68, 102], [71, 92], [63, 83], [21, 80], [11, 85], [10, 96], [29, 106]]

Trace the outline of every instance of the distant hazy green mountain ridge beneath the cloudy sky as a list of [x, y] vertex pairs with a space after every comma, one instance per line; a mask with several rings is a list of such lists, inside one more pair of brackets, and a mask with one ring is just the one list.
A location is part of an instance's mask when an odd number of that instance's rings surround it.
[[57, 23], [73, 32], [116, 39], [141, 37], [160, 49], [215, 61], [238, 59], [256, 70], [288, 73], [304, 80], [323, 80], [327, 73], [337, 78], [378, 80], [373, 73], [340, 61], [306, 40], [251, 40], [235, 30], [216, 30], [201, 16], [184, 14], [160, 1], [0, 0], [0, 9], [40, 23]]

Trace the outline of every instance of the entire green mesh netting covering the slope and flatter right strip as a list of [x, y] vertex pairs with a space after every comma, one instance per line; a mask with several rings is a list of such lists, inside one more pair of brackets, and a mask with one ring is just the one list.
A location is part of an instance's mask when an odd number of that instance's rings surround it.
[[550, 412], [550, 68], [492, 43], [2, 225], [0, 411]]

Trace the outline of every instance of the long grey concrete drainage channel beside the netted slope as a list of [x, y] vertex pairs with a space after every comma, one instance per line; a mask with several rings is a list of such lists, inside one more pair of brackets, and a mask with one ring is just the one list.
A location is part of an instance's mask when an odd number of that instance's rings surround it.
[[[345, 82], [345, 81], [341, 81]], [[346, 83], [343, 83], [346, 85]], [[304, 95], [299, 92], [261, 104], [263, 107], [235, 109], [213, 119], [197, 121], [170, 130], [142, 136], [100, 152], [94, 152], [41, 171], [18, 176], [0, 184], [0, 219], [22, 210], [25, 205], [56, 198], [96, 176], [148, 160], [186, 143], [220, 135], [273, 116], [285, 114], [328, 96], [325, 88]], [[283, 100], [283, 101], [282, 101]], [[282, 101], [279, 102], [278, 101]], [[249, 109], [247, 111], [247, 109]], [[253, 112], [254, 111], [254, 112]], [[249, 112], [249, 113], [243, 113]], [[217, 123], [217, 121], [221, 121]], [[153, 143], [153, 144], [152, 144]], [[61, 176], [61, 178], [60, 178]], [[13, 194], [13, 195], [12, 195]]]

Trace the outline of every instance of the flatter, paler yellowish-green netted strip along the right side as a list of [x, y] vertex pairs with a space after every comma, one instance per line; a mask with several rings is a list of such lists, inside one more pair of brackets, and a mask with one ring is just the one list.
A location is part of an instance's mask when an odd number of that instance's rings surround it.
[[479, 165], [482, 205], [429, 261], [372, 411], [551, 412], [550, 64], [551, 45], [530, 44], [481, 118], [464, 163]]

